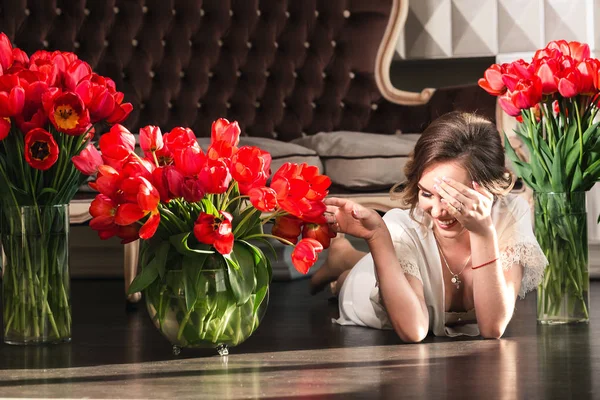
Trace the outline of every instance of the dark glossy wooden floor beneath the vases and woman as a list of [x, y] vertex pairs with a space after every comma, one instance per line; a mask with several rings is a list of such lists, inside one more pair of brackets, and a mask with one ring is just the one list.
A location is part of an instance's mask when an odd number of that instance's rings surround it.
[[539, 326], [535, 296], [501, 340], [428, 337], [331, 323], [337, 306], [308, 282], [275, 282], [256, 333], [220, 357], [171, 353], [122, 282], [74, 280], [73, 341], [0, 345], [0, 397], [36, 398], [600, 398], [600, 282], [592, 322]]

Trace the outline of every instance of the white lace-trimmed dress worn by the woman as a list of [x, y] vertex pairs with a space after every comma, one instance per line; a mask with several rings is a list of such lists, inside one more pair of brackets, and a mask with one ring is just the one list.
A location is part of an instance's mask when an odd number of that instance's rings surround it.
[[[383, 220], [404, 273], [423, 283], [429, 330], [436, 336], [479, 335], [474, 309], [464, 313], [444, 311], [442, 265], [432, 232], [433, 221], [418, 209], [414, 216], [412, 219], [408, 210], [393, 209]], [[523, 267], [519, 296], [524, 298], [525, 293], [541, 282], [548, 264], [533, 234], [529, 204], [522, 197], [509, 194], [495, 202], [491, 216], [502, 268], [507, 270], [515, 264]], [[391, 329], [381, 303], [371, 254], [364, 256], [348, 274], [339, 294], [339, 309], [340, 317], [334, 320], [338, 324]]]

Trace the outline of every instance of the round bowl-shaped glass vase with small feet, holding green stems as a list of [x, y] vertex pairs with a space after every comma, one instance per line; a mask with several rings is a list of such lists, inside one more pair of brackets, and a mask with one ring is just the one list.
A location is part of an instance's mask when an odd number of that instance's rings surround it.
[[[178, 257], [172, 251], [169, 262], [180, 265], [173, 254]], [[184, 278], [183, 271], [167, 270], [162, 279], [144, 289], [146, 306], [156, 328], [173, 345], [173, 354], [178, 355], [184, 347], [215, 348], [225, 356], [229, 347], [244, 342], [258, 328], [267, 310], [269, 289], [257, 288], [247, 301], [238, 304], [221, 257], [208, 256], [200, 267], [192, 298], [188, 297], [189, 279]], [[241, 267], [254, 269], [254, 265]]]

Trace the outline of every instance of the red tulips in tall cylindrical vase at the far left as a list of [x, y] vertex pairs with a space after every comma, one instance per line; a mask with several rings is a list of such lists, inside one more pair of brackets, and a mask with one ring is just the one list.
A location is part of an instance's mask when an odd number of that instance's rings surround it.
[[70, 340], [68, 203], [94, 124], [131, 112], [114, 82], [69, 52], [28, 57], [0, 33], [4, 338]]

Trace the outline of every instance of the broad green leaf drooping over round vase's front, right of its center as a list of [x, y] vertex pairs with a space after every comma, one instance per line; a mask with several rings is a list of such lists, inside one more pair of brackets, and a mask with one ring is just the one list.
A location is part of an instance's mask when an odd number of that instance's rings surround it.
[[254, 257], [243, 244], [236, 242], [233, 251], [224, 256], [227, 262], [229, 284], [238, 305], [248, 301], [256, 287]]

